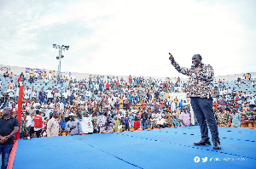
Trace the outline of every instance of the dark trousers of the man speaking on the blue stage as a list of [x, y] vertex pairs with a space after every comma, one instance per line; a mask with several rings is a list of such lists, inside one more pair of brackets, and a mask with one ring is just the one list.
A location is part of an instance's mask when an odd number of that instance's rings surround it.
[[201, 139], [202, 140], [209, 140], [208, 137], [208, 126], [210, 128], [210, 131], [212, 133], [212, 142], [218, 143], [218, 126], [217, 122], [213, 115], [212, 110], [212, 99], [207, 98], [190, 98], [192, 108], [195, 113], [195, 117], [197, 121], [199, 122], [199, 126], [201, 129]]

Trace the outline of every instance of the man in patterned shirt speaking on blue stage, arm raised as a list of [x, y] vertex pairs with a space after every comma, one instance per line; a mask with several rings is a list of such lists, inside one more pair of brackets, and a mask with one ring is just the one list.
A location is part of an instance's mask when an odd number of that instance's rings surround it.
[[189, 76], [187, 86], [189, 93], [187, 93], [187, 96], [190, 98], [192, 109], [201, 129], [201, 141], [194, 144], [211, 145], [208, 137], [208, 123], [212, 133], [213, 149], [221, 149], [218, 138], [218, 126], [212, 110], [212, 81], [214, 78], [212, 66], [202, 64], [200, 54], [195, 54], [192, 57], [193, 65], [191, 69], [178, 65], [172, 54], [170, 54], [169, 59], [179, 73]]

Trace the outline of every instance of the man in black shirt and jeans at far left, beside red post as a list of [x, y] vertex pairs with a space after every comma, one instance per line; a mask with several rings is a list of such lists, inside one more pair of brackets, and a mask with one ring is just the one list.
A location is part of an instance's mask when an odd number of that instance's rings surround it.
[[1, 169], [6, 169], [9, 162], [9, 154], [14, 145], [15, 133], [19, 131], [19, 121], [11, 116], [12, 108], [3, 109], [0, 118], [0, 154], [2, 154]]

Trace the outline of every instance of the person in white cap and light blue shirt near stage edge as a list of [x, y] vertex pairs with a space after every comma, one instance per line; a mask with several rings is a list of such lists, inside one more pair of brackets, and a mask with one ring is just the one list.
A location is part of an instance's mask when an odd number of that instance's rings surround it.
[[66, 132], [69, 132], [69, 135], [82, 135], [83, 130], [82, 126], [79, 120], [74, 118], [74, 114], [70, 113], [69, 114], [69, 121], [67, 121]]

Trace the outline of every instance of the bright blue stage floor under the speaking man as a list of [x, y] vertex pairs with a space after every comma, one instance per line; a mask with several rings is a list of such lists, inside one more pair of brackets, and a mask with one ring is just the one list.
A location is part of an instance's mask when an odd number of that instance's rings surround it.
[[199, 127], [22, 139], [13, 168], [256, 168], [256, 130], [218, 130], [220, 150], [193, 144]]

